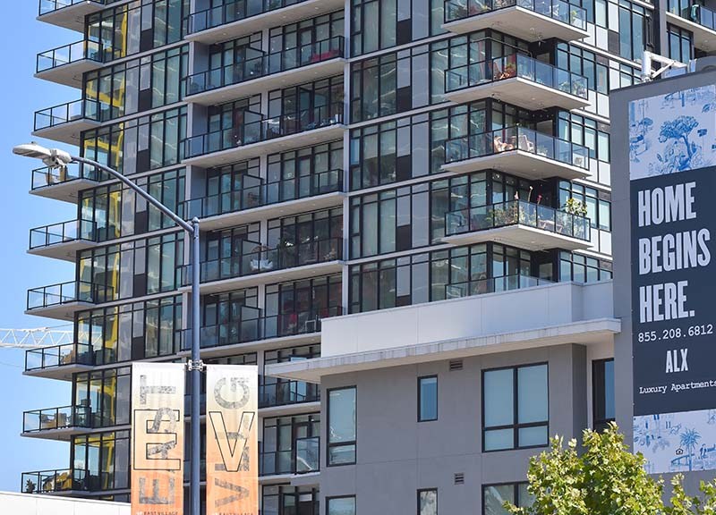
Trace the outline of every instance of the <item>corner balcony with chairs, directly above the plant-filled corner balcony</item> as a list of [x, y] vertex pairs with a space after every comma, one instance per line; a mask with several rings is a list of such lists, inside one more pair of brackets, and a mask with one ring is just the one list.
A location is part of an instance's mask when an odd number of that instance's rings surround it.
[[589, 176], [589, 149], [525, 127], [448, 139], [445, 165], [452, 173], [495, 169], [525, 179], [584, 179]]

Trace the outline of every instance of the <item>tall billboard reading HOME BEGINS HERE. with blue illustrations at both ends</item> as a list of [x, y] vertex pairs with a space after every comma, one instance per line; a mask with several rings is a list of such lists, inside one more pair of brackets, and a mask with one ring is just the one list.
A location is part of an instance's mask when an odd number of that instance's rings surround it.
[[634, 448], [716, 469], [716, 86], [629, 103]]

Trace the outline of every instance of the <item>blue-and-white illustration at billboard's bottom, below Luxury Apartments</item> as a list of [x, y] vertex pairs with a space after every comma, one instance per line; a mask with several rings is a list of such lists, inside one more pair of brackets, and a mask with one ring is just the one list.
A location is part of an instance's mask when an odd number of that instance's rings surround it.
[[716, 469], [716, 409], [634, 418], [634, 452], [650, 474]]

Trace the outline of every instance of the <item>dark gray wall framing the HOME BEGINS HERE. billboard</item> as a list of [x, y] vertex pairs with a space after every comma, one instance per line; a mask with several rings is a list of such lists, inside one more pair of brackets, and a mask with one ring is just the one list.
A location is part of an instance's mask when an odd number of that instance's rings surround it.
[[[629, 127], [628, 103], [637, 98], [664, 95], [672, 91], [695, 88], [716, 83], [716, 72], [698, 72], [656, 80], [647, 84], [618, 89], [609, 96], [611, 120], [611, 209], [614, 248], [614, 316], [621, 319], [622, 332], [614, 340], [614, 376], [617, 423], [626, 435], [626, 442], [633, 441], [632, 418], [634, 414], [634, 376], [632, 373], [632, 295], [631, 295], [631, 228], [619, 224], [630, 218], [629, 204]], [[716, 402], [716, 401], [714, 401]], [[669, 477], [669, 475], [665, 475]], [[714, 477], [711, 472], [686, 473], [687, 491], [695, 493], [701, 480]]]

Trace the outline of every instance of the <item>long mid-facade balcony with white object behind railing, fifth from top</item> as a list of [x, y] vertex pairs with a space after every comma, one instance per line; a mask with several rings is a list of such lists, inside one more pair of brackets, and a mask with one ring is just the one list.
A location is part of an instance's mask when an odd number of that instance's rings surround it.
[[[286, 243], [274, 249], [254, 241], [243, 241], [243, 249], [239, 256], [201, 263], [201, 294], [337, 274], [342, 269], [342, 238]], [[191, 271], [191, 265], [180, 268], [184, 288], [191, 283]]]

